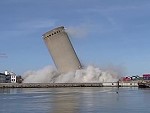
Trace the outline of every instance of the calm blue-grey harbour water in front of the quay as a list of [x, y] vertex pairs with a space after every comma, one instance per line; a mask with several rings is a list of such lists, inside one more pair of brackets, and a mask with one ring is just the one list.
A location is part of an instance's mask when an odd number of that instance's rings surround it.
[[0, 113], [149, 113], [149, 106], [150, 89], [0, 89]]

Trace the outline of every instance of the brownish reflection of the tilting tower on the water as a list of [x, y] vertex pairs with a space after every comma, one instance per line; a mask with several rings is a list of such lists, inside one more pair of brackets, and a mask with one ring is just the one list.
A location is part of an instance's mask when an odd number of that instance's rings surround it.
[[52, 113], [77, 113], [79, 106], [78, 92], [72, 89], [56, 89]]

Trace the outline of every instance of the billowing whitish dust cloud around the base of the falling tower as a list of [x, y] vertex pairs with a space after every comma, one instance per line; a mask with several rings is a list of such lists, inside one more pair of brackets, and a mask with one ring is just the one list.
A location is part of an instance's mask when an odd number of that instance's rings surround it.
[[103, 71], [94, 66], [60, 74], [52, 66], [46, 66], [37, 71], [28, 71], [23, 74], [24, 83], [97, 83], [116, 82], [119, 73], [116, 71]]

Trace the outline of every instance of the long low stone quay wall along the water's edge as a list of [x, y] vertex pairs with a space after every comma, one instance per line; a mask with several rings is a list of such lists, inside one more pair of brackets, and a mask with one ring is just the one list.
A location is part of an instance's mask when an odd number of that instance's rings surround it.
[[105, 83], [0, 83], [0, 88], [138, 87], [138, 82]]

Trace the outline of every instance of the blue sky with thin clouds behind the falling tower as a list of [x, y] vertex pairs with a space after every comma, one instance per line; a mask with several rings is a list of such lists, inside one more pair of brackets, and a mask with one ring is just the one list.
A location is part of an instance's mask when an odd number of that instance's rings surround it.
[[149, 12], [149, 0], [1, 0], [0, 71], [54, 65], [42, 34], [63, 25], [82, 64], [150, 73]]

